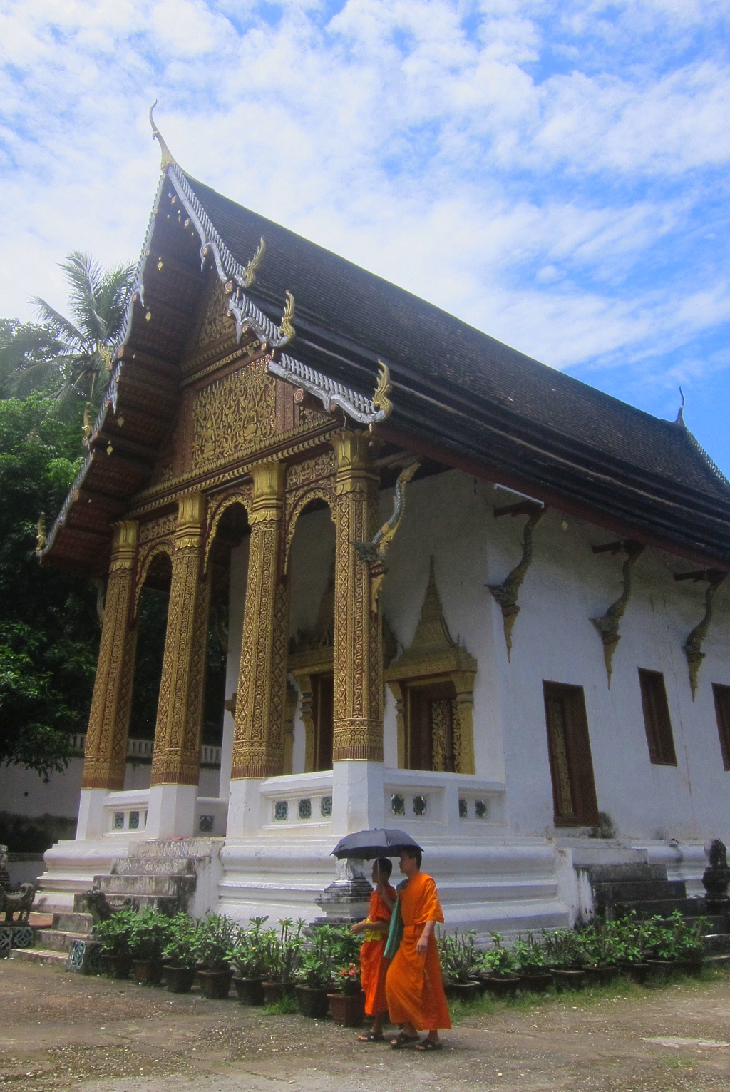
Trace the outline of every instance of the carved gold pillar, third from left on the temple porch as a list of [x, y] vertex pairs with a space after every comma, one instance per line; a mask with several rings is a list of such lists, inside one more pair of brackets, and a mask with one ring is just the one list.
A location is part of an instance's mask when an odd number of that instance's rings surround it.
[[283, 463], [251, 470], [249, 575], [236, 699], [231, 781], [284, 770], [289, 601], [282, 574]]

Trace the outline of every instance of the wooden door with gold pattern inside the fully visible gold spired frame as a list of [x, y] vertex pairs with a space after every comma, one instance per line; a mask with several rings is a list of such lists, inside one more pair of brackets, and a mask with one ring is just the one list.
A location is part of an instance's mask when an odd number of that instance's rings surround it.
[[453, 682], [408, 687], [406, 768], [455, 770]]

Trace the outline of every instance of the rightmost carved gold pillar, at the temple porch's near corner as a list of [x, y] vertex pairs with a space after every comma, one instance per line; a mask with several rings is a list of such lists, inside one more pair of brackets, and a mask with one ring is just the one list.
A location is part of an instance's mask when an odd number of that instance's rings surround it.
[[335, 523], [334, 761], [383, 761], [382, 627], [370, 609], [370, 569], [352, 543], [378, 530], [378, 478], [369, 462], [369, 434], [332, 438], [337, 456]]

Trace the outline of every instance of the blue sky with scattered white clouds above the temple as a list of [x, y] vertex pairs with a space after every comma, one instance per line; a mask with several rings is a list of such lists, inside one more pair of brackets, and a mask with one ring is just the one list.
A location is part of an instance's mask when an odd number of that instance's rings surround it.
[[135, 258], [159, 157], [730, 475], [727, 0], [4, 0], [0, 314]]

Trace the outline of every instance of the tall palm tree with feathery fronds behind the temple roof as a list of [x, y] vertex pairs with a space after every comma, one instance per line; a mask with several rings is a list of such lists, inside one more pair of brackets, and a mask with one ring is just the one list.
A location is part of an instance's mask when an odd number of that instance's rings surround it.
[[[69, 283], [72, 318], [67, 319], [36, 296], [41, 325], [19, 325], [4, 349], [0, 346], [0, 355], [17, 361], [20, 353], [22, 363], [8, 377], [15, 393], [48, 390], [50, 385], [60, 401], [73, 400], [75, 394], [85, 400], [87, 408], [95, 408], [111, 370], [111, 352], [122, 333], [134, 266], [104, 270], [91, 254], [74, 250], [60, 268]], [[45, 335], [45, 352], [25, 351], [28, 341], [35, 344], [34, 334], [35, 341], [43, 341], [39, 332]]]

